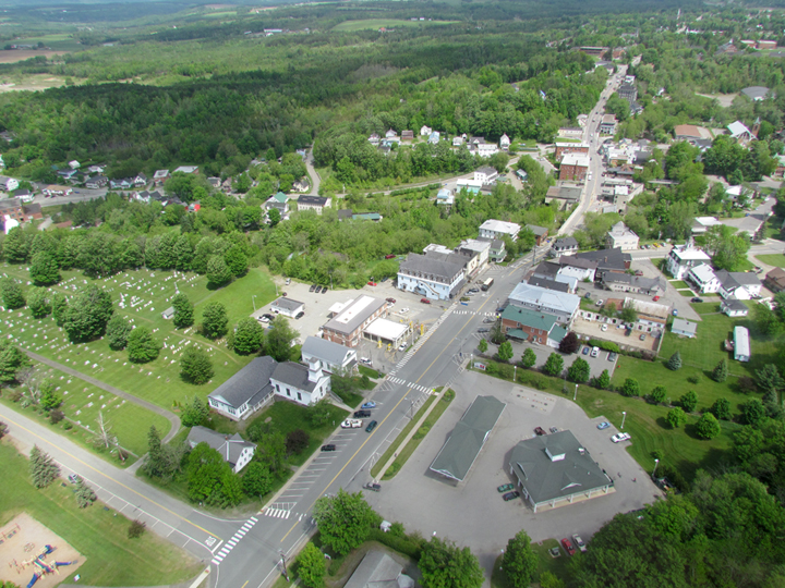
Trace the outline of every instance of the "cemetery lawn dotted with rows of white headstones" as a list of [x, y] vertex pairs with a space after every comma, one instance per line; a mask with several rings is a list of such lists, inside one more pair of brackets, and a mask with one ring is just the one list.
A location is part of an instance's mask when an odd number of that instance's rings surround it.
[[[24, 284], [28, 281], [25, 267], [4, 265], [2, 271], [19, 278]], [[49, 290], [73, 296], [89, 280], [78, 272], [63, 272], [63, 281]], [[182, 403], [194, 394], [206, 397], [252, 359], [229, 351], [222, 341], [208, 341], [197, 333], [204, 306], [208, 302], [222, 303], [229, 315], [229, 328], [232, 328], [239, 319], [253, 311], [252, 295], [256, 295], [257, 308], [275, 298], [275, 285], [269, 275], [256, 268], [216, 291], [207, 289], [207, 280], [203, 275], [148, 270], [130, 271], [95, 280], [94, 283], [111, 294], [116, 313], [125, 316], [135, 326], [145, 326], [154, 331], [165, 345], [157, 359], [149, 364], [132, 364], [125, 351], [112, 351], [104, 340], [72, 345], [51, 316], [36, 320], [25, 308], [3, 317], [5, 320], [0, 324], [0, 336], [12, 334], [29, 351], [169, 409], [176, 402]], [[188, 294], [196, 307], [196, 326], [190, 329], [177, 330], [171, 320], [161, 317], [178, 291]], [[121, 303], [123, 308], [119, 306]], [[213, 380], [198, 387], [180, 378], [180, 356], [189, 345], [195, 344], [208, 352], [215, 369]]]

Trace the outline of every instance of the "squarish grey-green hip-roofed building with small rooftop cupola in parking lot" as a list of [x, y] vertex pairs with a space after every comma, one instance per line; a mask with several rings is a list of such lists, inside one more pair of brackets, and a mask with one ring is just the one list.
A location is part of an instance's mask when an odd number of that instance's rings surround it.
[[570, 431], [526, 439], [514, 449], [510, 474], [534, 512], [607, 494], [614, 483]]

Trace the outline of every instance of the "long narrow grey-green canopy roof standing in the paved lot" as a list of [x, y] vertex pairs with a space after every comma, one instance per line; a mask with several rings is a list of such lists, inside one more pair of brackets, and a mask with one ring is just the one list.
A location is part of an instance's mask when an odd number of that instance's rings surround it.
[[457, 481], [466, 478], [505, 406], [494, 396], [474, 399], [439, 450], [431, 469]]

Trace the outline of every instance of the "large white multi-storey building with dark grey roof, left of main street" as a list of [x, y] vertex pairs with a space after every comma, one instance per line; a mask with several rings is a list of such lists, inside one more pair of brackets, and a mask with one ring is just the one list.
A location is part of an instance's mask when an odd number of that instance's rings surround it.
[[436, 301], [448, 301], [466, 283], [464, 264], [458, 256], [410, 253], [398, 269], [398, 289]]

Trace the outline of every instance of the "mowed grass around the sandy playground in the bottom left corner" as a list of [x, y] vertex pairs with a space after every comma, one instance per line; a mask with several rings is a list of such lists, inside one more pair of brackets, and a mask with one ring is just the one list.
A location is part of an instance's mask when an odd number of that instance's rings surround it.
[[[100, 502], [78, 509], [70, 485], [44, 490], [29, 482], [27, 460], [0, 443], [0, 525], [26, 512], [68, 541], [84, 558], [80, 581], [87, 586], [159, 586], [192, 579], [203, 565], [152, 531], [128, 538], [130, 520]], [[57, 546], [56, 546], [57, 547]], [[61, 581], [72, 584], [72, 575]], [[22, 584], [20, 581], [20, 584]]]

